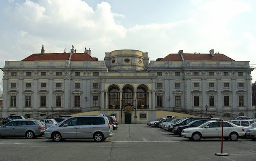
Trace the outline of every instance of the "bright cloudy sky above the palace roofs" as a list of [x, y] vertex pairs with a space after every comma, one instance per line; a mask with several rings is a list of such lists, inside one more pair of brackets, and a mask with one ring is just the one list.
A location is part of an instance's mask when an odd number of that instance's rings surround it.
[[[33, 53], [214, 49], [256, 67], [256, 0], [1, 0], [0, 67]], [[2, 79], [2, 71], [0, 72]], [[252, 83], [256, 70], [252, 72]]]

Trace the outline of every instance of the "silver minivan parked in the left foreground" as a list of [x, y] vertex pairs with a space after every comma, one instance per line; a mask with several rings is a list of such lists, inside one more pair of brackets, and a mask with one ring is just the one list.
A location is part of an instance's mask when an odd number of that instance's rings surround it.
[[94, 139], [101, 142], [112, 137], [113, 127], [104, 115], [74, 116], [46, 129], [44, 136], [53, 141], [64, 139]]

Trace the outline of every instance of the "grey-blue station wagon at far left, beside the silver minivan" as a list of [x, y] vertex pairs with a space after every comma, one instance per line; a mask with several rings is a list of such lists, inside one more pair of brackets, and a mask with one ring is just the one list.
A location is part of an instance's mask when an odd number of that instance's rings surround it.
[[33, 139], [44, 134], [45, 127], [38, 120], [19, 119], [13, 120], [0, 127], [0, 136], [3, 137], [27, 137]]

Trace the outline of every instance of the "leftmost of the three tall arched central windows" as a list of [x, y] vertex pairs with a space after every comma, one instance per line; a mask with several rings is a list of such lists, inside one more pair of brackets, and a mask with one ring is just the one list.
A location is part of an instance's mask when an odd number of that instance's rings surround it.
[[109, 91], [108, 107], [110, 109], [112, 109], [113, 107], [115, 108], [120, 107], [120, 94], [119, 94], [119, 90], [115, 87], [111, 88]]

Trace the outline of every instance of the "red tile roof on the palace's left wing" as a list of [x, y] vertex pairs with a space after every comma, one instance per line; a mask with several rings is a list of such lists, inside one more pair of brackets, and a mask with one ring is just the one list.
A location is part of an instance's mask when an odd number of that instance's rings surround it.
[[[22, 61], [42, 61], [42, 60], [69, 60], [70, 53], [46, 53], [32, 54]], [[73, 53], [72, 61], [95, 61], [94, 58], [85, 53]]]

